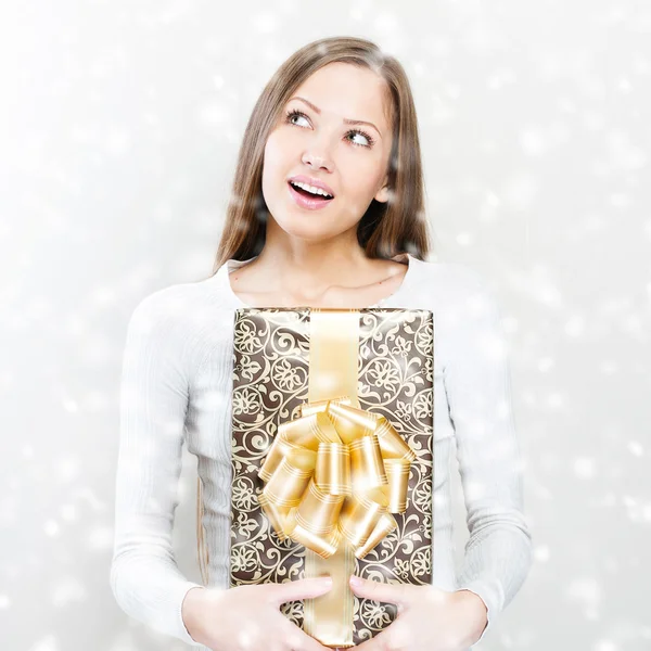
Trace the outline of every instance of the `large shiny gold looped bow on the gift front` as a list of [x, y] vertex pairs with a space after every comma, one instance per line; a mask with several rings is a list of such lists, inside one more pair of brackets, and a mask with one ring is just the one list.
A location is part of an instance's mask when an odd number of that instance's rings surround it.
[[362, 559], [397, 526], [416, 459], [393, 425], [349, 396], [306, 403], [281, 423], [258, 471], [259, 503], [281, 540], [327, 559], [342, 539]]

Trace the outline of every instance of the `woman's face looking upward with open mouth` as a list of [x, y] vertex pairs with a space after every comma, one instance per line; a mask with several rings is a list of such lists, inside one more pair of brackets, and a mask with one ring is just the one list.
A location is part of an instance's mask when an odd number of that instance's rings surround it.
[[[337, 62], [292, 94], [267, 139], [263, 166], [265, 202], [286, 233], [332, 238], [356, 227], [373, 199], [387, 201], [392, 128], [385, 92], [372, 71]], [[296, 176], [326, 183], [334, 197], [318, 209], [306, 207], [289, 183]]]

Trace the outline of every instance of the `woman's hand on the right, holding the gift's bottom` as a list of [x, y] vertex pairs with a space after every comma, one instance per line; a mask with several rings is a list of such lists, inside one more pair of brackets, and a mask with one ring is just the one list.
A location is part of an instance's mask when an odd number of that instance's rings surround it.
[[398, 615], [375, 637], [358, 644], [363, 651], [465, 651], [486, 627], [487, 612], [470, 590], [446, 592], [434, 586], [384, 584], [350, 577], [358, 597], [395, 603]]

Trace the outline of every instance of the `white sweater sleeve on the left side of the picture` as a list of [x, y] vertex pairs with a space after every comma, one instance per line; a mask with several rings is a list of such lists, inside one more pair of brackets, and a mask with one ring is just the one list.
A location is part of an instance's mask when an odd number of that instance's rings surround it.
[[179, 571], [171, 544], [188, 406], [183, 335], [166, 290], [145, 297], [128, 329], [120, 384], [111, 588], [129, 616], [200, 647], [181, 617], [200, 584]]

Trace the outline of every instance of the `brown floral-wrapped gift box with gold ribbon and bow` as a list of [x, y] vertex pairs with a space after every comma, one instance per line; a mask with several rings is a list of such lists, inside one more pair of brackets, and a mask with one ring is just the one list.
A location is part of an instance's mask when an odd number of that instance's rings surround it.
[[235, 310], [230, 585], [332, 576], [281, 607], [324, 646], [396, 617], [352, 574], [431, 584], [433, 348], [430, 310]]

